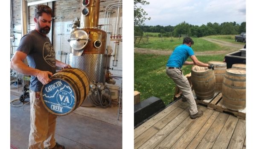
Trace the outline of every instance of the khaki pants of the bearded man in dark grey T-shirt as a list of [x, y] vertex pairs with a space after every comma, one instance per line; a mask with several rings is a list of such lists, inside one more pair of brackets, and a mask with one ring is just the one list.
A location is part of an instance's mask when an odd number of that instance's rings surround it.
[[57, 116], [49, 113], [40, 99], [40, 92], [29, 91], [30, 134], [29, 149], [53, 148]]

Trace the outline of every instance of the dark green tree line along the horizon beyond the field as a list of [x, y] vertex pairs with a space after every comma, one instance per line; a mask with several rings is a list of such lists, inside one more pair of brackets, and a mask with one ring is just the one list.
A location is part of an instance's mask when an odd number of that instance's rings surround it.
[[[134, 24], [135, 25], [135, 24]], [[159, 37], [179, 37], [187, 35], [189, 37], [204, 37], [218, 34], [240, 34], [246, 32], [246, 22], [241, 24], [234, 22], [207, 23], [207, 25], [191, 25], [185, 21], [176, 26], [134, 26], [134, 36], [143, 36], [143, 32], [155, 32]], [[145, 34], [144, 34], [145, 36]]]

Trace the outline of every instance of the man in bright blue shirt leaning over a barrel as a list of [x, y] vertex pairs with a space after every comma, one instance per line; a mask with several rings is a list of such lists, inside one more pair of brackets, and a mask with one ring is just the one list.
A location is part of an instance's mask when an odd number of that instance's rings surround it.
[[[190, 37], [185, 37], [183, 39], [183, 44], [177, 46], [172, 52], [169, 60], [166, 64], [166, 74], [172, 78], [176, 86], [181, 90], [182, 95], [186, 98], [189, 103], [190, 117], [195, 119], [196, 117], [201, 117], [203, 115], [202, 111], [198, 111], [195, 99], [192, 93], [192, 89], [189, 85], [188, 79], [183, 75], [181, 67], [183, 65], [197, 65], [201, 67], [208, 67], [209, 69], [214, 69], [212, 64], [202, 63], [199, 61], [194, 54], [191, 46], [194, 41]], [[186, 61], [190, 57], [192, 62]]]

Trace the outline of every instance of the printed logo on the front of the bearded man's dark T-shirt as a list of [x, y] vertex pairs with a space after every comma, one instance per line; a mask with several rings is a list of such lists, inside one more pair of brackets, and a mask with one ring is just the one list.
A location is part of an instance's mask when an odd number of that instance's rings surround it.
[[46, 63], [48, 63], [52, 67], [55, 67], [55, 52], [51, 43], [44, 43], [43, 55]]

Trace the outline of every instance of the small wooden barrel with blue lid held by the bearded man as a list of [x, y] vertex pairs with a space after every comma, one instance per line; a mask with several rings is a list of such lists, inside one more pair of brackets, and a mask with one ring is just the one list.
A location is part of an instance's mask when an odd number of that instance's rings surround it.
[[45, 109], [58, 116], [67, 115], [81, 106], [88, 95], [90, 81], [81, 69], [67, 68], [55, 73], [41, 89]]

